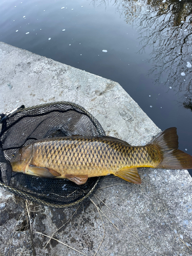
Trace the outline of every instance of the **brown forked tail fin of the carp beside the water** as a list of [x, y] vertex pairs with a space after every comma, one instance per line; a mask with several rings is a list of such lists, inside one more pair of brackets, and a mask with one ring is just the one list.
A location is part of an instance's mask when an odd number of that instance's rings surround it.
[[158, 147], [162, 157], [162, 162], [157, 168], [192, 169], [192, 156], [178, 150], [176, 127], [166, 129], [151, 143]]

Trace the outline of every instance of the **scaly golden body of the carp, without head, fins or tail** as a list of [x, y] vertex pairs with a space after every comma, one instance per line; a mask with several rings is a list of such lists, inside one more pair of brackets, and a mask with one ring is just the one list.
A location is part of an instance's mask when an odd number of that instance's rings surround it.
[[105, 137], [50, 139], [35, 142], [32, 147], [29, 164], [54, 169], [61, 175], [58, 178], [66, 174], [105, 176], [123, 167], [159, 164], [159, 160], [155, 163], [158, 154], [154, 154], [154, 148], [124, 145]]

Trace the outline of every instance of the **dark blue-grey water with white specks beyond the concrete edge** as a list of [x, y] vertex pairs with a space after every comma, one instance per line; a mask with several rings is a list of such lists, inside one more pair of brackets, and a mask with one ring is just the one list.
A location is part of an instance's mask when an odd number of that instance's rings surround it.
[[192, 4], [146, 3], [1, 1], [0, 40], [119, 82], [192, 155]]

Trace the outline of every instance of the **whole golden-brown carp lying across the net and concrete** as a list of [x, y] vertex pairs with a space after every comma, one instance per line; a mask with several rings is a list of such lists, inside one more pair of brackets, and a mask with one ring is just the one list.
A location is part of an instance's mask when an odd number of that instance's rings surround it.
[[74, 135], [36, 140], [20, 148], [10, 162], [14, 172], [69, 179], [76, 184], [108, 174], [141, 184], [137, 167], [192, 168], [192, 157], [178, 150], [175, 127], [144, 146], [131, 146], [107, 136]]

